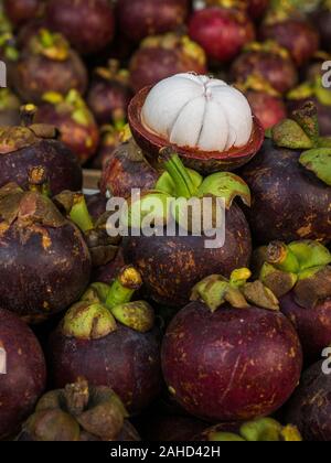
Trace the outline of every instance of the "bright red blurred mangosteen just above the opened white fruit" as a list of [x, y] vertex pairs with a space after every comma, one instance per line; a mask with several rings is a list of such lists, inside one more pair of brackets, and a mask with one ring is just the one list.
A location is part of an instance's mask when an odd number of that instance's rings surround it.
[[195, 11], [190, 19], [189, 33], [209, 58], [218, 63], [232, 61], [255, 39], [254, 24], [244, 11], [218, 7]]

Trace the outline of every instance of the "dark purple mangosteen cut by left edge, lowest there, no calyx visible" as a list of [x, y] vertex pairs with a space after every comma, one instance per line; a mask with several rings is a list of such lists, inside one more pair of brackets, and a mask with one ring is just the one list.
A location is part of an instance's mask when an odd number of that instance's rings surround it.
[[3, 309], [0, 309], [0, 375], [1, 440], [13, 434], [32, 412], [46, 384], [45, 360], [36, 337], [17, 315]]

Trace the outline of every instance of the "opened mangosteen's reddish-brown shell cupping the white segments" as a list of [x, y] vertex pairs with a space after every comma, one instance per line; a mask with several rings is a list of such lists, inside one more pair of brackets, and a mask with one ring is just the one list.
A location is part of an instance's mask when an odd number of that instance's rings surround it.
[[189, 147], [182, 148], [171, 144], [168, 140], [151, 133], [143, 127], [141, 121], [141, 110], [150, 89], [151, 87], [146, 87], [134, 97], [129, 105], [128, 118], [135, 140], [151, 162], [158, 162], [159, 152], [162, 148], [171, 147], [178, 152], [188, 168], [203, 174], [210, 174], [238, 169], [249, 162], [260, 149], [265, 132], [256, 117], [254, 117], [253, 133], [246, 147], [233, 148], [229, 151], [220, 153], [197, 151]]

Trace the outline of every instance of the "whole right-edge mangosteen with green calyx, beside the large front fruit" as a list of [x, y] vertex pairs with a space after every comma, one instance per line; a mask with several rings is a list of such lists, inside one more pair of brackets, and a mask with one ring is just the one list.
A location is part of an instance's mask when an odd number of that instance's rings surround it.
[[331, 254], [318, 241], [275, 241], [256, 251], [260, 280], [280, 298], [299, 334], [306, 363], [331, 344]]

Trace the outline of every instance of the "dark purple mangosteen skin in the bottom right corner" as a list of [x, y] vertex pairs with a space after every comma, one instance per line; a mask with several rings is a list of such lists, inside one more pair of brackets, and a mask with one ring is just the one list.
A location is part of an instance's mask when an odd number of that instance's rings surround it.
[[305, 441], [331, 441], [331, 375], [330, 362], [322, 360], [303, 373], [300, 386], [288, 403], [286, 419], [298, 427]]

